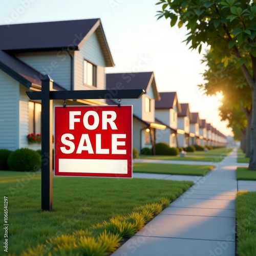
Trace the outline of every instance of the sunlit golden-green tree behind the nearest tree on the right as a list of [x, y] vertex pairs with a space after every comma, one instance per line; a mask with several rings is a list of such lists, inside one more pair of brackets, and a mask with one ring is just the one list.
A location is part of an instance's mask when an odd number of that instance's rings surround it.
[[[243, 139], [244, 139], [244, 150], [246, 157], [250, 157], [250, 124], [251, 124], [251, 90], [250, 87], [243, 76], [241, 69], [236, 69], [233, 63], [229, 63], [227, 67], [224, 67], [222, 63], [216, 63], [214, 59], [214, 54], [208, 52], [204, 54], [202, 62], [206, 63], [207, 69], [203, 73], [205, 80], [204, 84], [200, 84], [200, 90], [203, 90], [207, 95], [215, 95], [220, 92], [223, 94], [224, 98], [222, 100], [223, 108], [222, 110], [239, 111], [246, 117], [247, 124], [242, 129]], [[225, 109], [224, 109], [225, 108]], [[220, 112], [222, 114], [222, 112]], [[228, 112], [225, 113], [228, 119]], [[241, 115], [242, 118], [243, 115]], [[238, 116], [239, 117], [239, 116]], [[242, 121], [242, 120], [241, 120]], [[230, 127], [232, 127], [231, 125]]]

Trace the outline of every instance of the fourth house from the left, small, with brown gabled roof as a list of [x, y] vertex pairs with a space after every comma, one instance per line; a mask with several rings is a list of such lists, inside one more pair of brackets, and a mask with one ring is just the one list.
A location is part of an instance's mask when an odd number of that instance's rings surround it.
[[188, 103], [180, 103], [181, 112], [178, 113], [178, 141], [180, 147], [187, 147], [189, 145], [189, 123], [191, 113], [189, 111]]

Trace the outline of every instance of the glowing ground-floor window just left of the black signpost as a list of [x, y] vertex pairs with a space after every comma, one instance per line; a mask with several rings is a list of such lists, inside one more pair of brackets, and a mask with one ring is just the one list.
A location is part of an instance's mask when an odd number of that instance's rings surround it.
[[29, 134], [41, 133], [41, 104], [29, 101]]

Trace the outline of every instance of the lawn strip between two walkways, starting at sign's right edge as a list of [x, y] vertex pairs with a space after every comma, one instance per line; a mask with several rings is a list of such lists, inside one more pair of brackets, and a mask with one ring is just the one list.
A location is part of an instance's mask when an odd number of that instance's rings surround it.
[[178, 174], [205, 176], [214, 165], [164, 164], [164, 163], [134, 163], [135, 173]]

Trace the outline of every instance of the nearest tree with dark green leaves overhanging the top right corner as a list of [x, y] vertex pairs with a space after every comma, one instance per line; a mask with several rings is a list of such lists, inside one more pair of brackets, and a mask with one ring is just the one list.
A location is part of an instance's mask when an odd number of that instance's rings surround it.
[[160, 0], [159, 17], [170, 26], [188, 30], [186, 42], [201, 52], [207, 44], [216, 63], [240, 68], [252, 92], [251, 153], [249, 169], [256, 170], [256, 6], [238, 0]]

